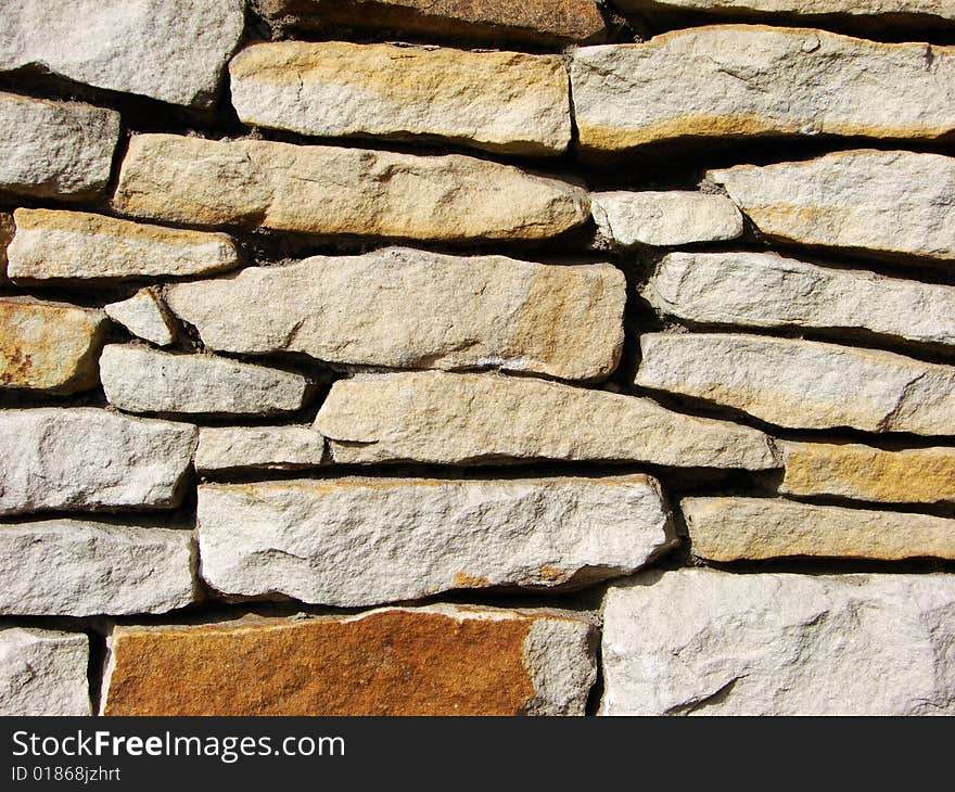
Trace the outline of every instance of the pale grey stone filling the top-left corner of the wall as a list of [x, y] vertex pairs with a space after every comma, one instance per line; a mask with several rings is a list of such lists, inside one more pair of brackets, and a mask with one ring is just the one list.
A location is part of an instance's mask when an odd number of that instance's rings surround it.
[[206, 106], [243, 26], [243, 0], [7, 0], [0, 72]]

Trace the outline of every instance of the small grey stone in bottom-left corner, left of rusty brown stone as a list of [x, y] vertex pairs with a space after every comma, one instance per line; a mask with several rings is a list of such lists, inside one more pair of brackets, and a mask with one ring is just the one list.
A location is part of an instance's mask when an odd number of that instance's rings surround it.
[[88, 663], [82, 633], [0, 629], [0, 715], [90, 715]]

